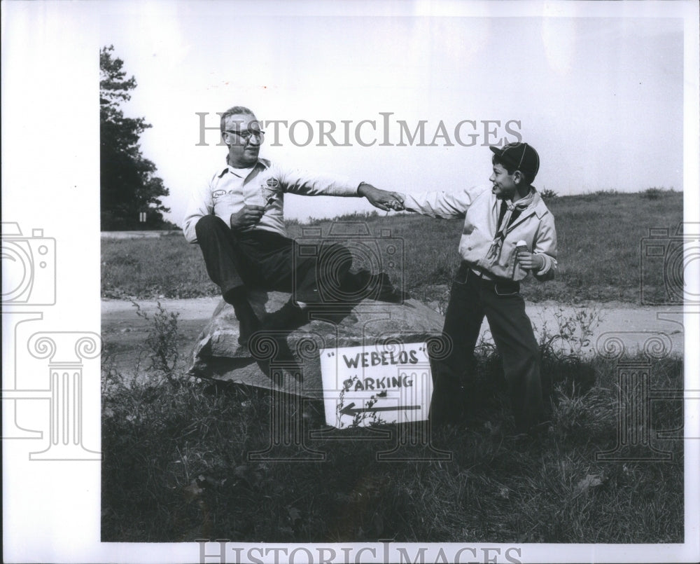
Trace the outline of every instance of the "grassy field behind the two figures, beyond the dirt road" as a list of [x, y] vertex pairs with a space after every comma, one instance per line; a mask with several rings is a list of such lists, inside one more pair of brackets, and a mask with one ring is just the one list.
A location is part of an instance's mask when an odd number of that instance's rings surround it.
[[[665, 295], [661, 266], [640, 280], [640, 242], [649, 228], [675, 227], [682, 221], [682, 192], [650, 188], [643, 193], [598, 193], [557, 196], [547, 201], [556, 220], [559, 273], [542, 284], [524, 282], [531, 301], [625, 301], [639, 303], [640, 283], [652, 300]], [[372, 235], [391, 230], [402, 247], [401, 259], [388, 268], [386, 238], [377, 238], [382, 268], [422, 301], [444, 301], [458, 266], [458, 240], [463, 221], [437, 220], [412, 214], [351, 214], [335, 221], [363, 221]], [[330, 220], [316, 220], [324, 236]], [[302, 235], [290, 221], [290, 236]], [[347, 240], [347, 238], [344, 238]], [[384, 249], [384, 250], [383, 250]], [[197, 245], [181, 235], [160, 239], [103, 240], [102, 296], [105, 298], [195, 298], [216, 296]]]

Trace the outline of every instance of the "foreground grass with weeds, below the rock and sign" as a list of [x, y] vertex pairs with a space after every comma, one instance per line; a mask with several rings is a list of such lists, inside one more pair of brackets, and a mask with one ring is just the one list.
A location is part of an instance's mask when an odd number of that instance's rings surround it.
[[[672, 453], [666, 462], [596, 461], [617, 441], [614, 360], [559, 358], [547, 346], [552, 336], [543, 336], [553, 412], [551, 427], [538, 436], [512, 435], [499, 360], [482, 345], [465, 425], [432, 435], [420, 426], [388, 426], [393, 438], [373, 441], [345, 429], [337, 432], [344, 440], [333, 440], [313, 434], [325, 428], [322, 407], [297, 402], [285, 421], [301, 430], [283, 453], [304, 458], [304, 444], [325, 460], [256, 461], [251, 453], [272, 444], [276, 401], [288, 398], [186, 378], [181, 362], [163, 352], [170, 350], [164, 341], [176, 338], [176, 316], [160, 308], [152, 321], [149, 376], [128, 378], [103, 362], [103, 542], [684, 538], [682, 441], [652, 439]], [[651, 387], [682, 387], [682, 359], [652, 362]], [[681, 425], [679, 402], [654, 401], [652, 429]], [[414, 440], [413, 453], [439, 448], [451, 460], [378, 460], [400, 433]]]

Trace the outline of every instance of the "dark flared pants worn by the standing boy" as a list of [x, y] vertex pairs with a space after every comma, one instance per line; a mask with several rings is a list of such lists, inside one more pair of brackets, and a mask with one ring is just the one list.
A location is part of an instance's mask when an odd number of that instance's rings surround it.
[[434, 422], [459, 418], [464, 408], [462, 375], [474, 376], [474, 348], [484, 316], [503, 359], [515, 425], [519, 431], [526, 431], [540, 422], [544, 406], [540, 350], [519, 284], [487, 282], [466, 263], [458, 270], [447, 305], [442, 332], [451, 345], [447, 357], [434, 362], [430, 418]]

